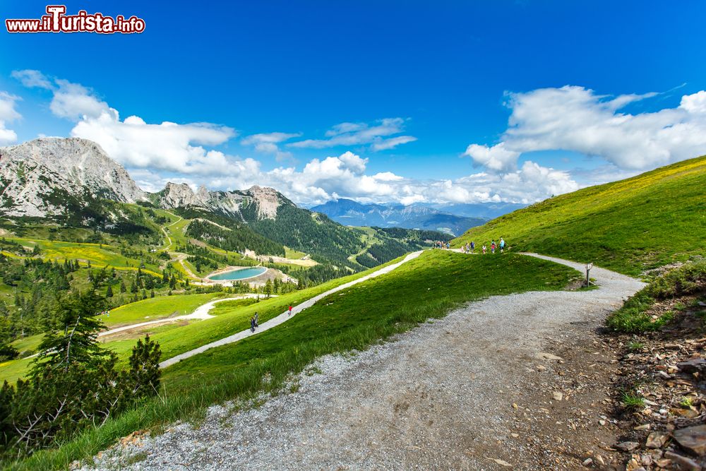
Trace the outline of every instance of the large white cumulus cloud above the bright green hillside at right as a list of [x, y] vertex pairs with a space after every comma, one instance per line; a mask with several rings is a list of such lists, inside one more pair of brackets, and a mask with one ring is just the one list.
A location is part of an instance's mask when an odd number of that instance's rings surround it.
[[653, 97], [607, 97], [564, 86], [508, 93], [512, 110], [501, 142], [468, 146], [465, 155], [491, 170], [512, 170], [517, 157], [535, 150], [570, 150], [602, 157], [619, 169], [648, 169], [706, 152], [706, 92], [684, 95], [678, 107], [623, 112]]

